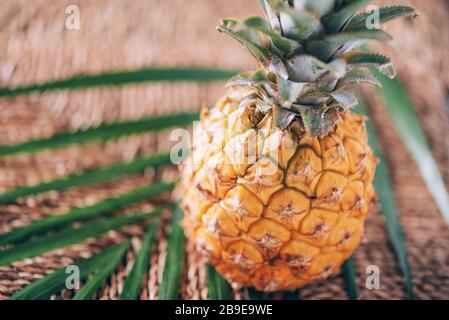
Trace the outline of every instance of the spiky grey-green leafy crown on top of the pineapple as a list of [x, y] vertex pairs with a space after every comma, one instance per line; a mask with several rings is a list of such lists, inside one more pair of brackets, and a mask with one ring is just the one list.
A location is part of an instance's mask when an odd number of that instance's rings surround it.
[[242, 106], [257, 101], [262, 113], [273, 111], [282, 129], [299, 121], [310, 135], [327, 135], [338, 113], [357, 105], [353, 91], [358, 84], [380, 87], [369, 67], [395, 76], [388, 57], [360, 50], [367, 40], [392, 39], [368, 21], [377, 17], [373, 21], [382, 24], [417, 15], [407, 6], [360, 12], [372, 1], [260, 0], [267, 19], [224, 20], [218, 30], [239, 41], [263, 66], [229, 81], [254, 89]]

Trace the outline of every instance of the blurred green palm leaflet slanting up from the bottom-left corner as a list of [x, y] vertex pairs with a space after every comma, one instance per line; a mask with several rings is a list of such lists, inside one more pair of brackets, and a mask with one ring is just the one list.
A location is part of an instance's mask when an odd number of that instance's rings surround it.
[[[128, 246], [127, 243], [126, 246]], [[89, 259], [79, 259], [74, 261], [71, 265], [78, 267], [80, 281], [86, 279], [90, 273], [103, 268], [110, 257], [114, 255], [117, 250], [120, 250], [122, 246], [123, 244], [114, 245]], [[66, 288], [66, 280], [67, 266], [50, 273], [42, 279], [32, 282], [16, 292], [11, 297], [11, 300], [49, 299], [53, 294], [58, 294], [62, 289]]]

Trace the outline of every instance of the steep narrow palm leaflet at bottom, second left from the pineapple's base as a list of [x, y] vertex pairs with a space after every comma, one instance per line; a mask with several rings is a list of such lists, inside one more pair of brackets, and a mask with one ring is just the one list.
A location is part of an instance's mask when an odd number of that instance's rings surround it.
[[159, 218], [156, 218], [148, 227], [143, 239], [142, 246], [136, 256], [134, 265], [125, 280], [123, 291], [119, 296], [120, 300], [136, 300], [142, 287], [145, 273], [148, 272], [152, 246], [156, 240], [156, 233], [159, 228]]

